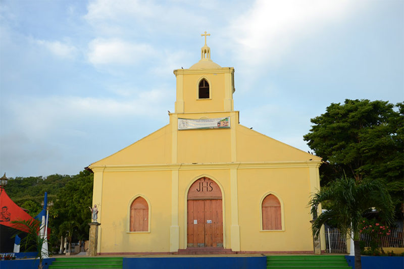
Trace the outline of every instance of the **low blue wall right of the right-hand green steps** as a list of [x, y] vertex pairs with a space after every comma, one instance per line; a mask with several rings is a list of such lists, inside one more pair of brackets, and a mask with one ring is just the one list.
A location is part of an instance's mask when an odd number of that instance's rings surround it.
[[[352, 269], [355, 269], [354, 256], [345, 256], [346, 261]], [[362, 269], [403, 269], [404, 257], [388, 256], [362, 256]]]

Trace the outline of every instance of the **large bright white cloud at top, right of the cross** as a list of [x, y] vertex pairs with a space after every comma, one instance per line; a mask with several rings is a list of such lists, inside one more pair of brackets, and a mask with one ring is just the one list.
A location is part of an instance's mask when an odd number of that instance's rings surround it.
[[258, 0], [226, 29], [236, 57], [248, 65], [280, 60], [291, 46], [313, 32], [338, 23], [352, 10], [351, 1]]

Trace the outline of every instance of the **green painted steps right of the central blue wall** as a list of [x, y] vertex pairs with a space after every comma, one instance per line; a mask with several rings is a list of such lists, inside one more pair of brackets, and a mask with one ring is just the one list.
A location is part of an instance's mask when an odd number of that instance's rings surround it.
[[268, 269], [351, 269], [342, 255], [267, 256]]

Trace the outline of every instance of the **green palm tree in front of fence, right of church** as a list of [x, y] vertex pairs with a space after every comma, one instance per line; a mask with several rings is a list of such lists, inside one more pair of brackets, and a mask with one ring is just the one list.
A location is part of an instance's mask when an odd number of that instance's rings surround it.
[[313, 235], [318, 236], [322, 225], [327, 221], [336, 223], [342, 233], [349, 236], [353, 234], [355, 268], [362, 269], [359, 223], [363, 220], [363, 215], [374, 208], [385, 223], [391, 223], [394, 218], [393, 203], [385, 185], [376, 180], [357, 182], [346, 176], [336, 179], [327, 188], [313, 194], [309, 205], [314, 216], [319, 204], [326, 201], [329, 203], [328, 209], [314, 221]]

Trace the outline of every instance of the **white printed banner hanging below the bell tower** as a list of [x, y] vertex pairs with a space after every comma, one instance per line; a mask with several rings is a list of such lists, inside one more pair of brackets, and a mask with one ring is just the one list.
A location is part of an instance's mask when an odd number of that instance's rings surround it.
[[230, 117], [198, 120], [178, 118], [178, 130], [225, 128], [230, 128]]

